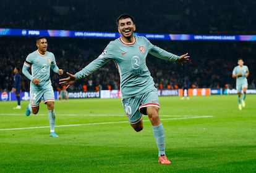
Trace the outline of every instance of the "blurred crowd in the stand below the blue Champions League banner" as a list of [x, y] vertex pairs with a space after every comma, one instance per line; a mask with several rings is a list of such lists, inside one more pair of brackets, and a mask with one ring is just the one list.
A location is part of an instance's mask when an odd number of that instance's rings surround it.
[[[98, 57], [110, 40], [48, 38], [48, 50], [56, 56], [59, 68], [75, 73]], [[249, 66], [249, 87], [255, 88], [255, 42], [198, 42], [198, 41], [151, 41], [169, 52], [181, 55], [189, 52], [191, 60], [186, 65], [166, 62], [148, 55], [147, 64], [159, 89], [181, 88], [181, 81], [187, 77], [194, 87], [234, 87], [231, 78], [237, 58], [244, 58]], [[22, 68], [30, 52], [36, 50], [35, 38], [0, 39], [0, 89], [11, 91], [14, 66]], [[52, 74], [54, 90], [60, 89], [59, 76]], [[86, 88], [85, 88], [86, 87]], [[192, 86], [190, 86], [192, 87]], [[95, 89], [119, 89], [119, 74], [114, 62], [108, 62], [98, 71], [75, 83], [69, 90], [92, 91]], [[22, 90], [29, 90], [29, 81], [23, 76]]]

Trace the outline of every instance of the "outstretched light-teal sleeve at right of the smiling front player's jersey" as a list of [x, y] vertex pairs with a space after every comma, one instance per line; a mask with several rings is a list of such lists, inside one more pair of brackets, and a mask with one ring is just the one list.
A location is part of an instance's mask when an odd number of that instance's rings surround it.
[[179, 60], [179, 56], [174, 55], [171, 52], [167, 52], [166, 50], [161, 49], [160, 47], [151, 44], [151, 42], [148, 41], [148, 39], [146, 39], [146, 38], [145, 38], [145, 40], [149, 47], [149, 51], [148, 51], [149, 54], [151, 54], [155, 57], [161, 58], [163, 60], [168, 60], [168, 61], [172, 61], [172, 62], [176, 62], [177, 60]]

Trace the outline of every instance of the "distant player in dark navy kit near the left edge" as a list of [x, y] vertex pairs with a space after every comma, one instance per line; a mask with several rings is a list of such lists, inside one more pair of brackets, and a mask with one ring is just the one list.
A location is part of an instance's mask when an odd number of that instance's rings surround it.
[[20, 89], [21, 89], [21, 74], [19, 66], [15, 66], [14, 68], [14, 86], [12, 87], [12, 92], [15, 92], [17, 99], [17, 107], [14, 110], [21, 109], [20, 106]]

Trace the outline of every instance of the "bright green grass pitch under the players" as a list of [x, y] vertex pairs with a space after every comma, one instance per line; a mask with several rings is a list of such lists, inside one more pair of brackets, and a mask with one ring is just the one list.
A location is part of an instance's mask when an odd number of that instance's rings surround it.
[[236, 95], [160, 97], [171, 165], [157, 163], [147, 116], [135, 132], [120, 99], [57, 100], [59, 138], [49, 137], [43, 103], [26, 117], [28, 102], [0, 102], [0, 172], [255, 172], [255, 100], [247, 95], [239, 111]]

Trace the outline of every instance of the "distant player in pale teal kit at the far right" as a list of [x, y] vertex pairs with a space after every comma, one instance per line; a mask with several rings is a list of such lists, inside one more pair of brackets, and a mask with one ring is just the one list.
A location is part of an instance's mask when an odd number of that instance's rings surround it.
[[[242, 110], [242, 107], [245, 107], [246, 90], [248, 87], [247, 77], [249, 76], [249, 68], [248, 66], [244, 65], [244, 60], [242, 60], [242, 58], [238, 59], [237, 64], [238, 65], [234, 67], [232, 77], [236, 78], [238, 108], [239, 110]], [[241, 91], [243, 91], [242, 100]]]

